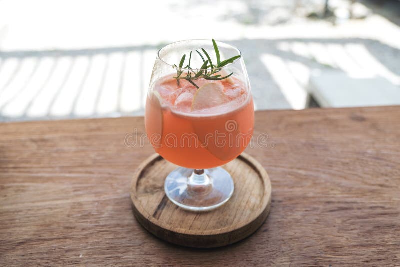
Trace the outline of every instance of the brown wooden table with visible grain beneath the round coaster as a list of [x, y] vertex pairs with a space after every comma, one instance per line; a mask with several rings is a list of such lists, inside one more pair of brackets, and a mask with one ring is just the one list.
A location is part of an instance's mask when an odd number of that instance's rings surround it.
[[270, 215], [210, 250], [133, 217], [132, 173], [153, 153], [124, 144], [133, 128], [142, 117], [0, 124], [1, 265], [400, 265], [400, 106], [257, 112], [267, 147], [246, 151], [269, 173]]

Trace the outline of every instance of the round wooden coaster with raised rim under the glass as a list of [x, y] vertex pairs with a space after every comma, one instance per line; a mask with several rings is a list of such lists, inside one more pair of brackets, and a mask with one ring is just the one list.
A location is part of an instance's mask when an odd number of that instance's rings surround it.
[[235, 190], [226, 204], [208, 212], [184, 210], [164, 192], [165, 177], [177, 166], [154, 154], [133, 176], [131, 198], [136, 219], [168, 242], [190, 247], [218, 247], [252, 234], [265, 221], [271, 206], [271, 183], [265, 169], [242, 153], [224, 165]]

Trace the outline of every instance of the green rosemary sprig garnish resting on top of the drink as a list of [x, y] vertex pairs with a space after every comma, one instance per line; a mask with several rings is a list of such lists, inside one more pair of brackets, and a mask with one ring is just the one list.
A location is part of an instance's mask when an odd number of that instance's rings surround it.
[[[207, 51], [204, 50], [204, 48], [201, 48], [201, 50], [204, 53], [207, 60], [205, 60], [204, 56], [198, 50], [196, 50], [196, 52], [200, 55], [201, 59], [203, 60], [203, 64], [200, 67], [200, 69], [196, 68], [196, 71], [195, 71], [192, 67], [190, 67], [192, 51], [190, 51], [188, 65], [183, 67], [184, 61], [186, 59], [186, 54], [184, 54], [182, 56], [182, 58], [180, 59], [179, 66], [173, 65], [173, 67], [176, 68], [176, 77], [173, 77], [173, 78], [176, 79], [178, 85], [179, 85], [180, 79], [185, 79], [198, 89], [199, 87], [193, 82], [193, 80], [196, 80], [199, 78], [204, 78], [206, 80], [222, 80], [222, 79], [226, 79], [226, 78], [230, 77], [231, 75], [233, 75], [233, 72], [224, 77], [221, 77], [221, 75], [214, 75], [214, 74], [221, 71], [222, 67], [226, 66], [229, 63], [232, 63], [234, 60], [239, 58], [240, 55], [236, 55], [229, 59], [221, 61], [221, 56], [219, 53], [218, 45], [216, 45], [216, 42], [214, 39], [212, 39], [212, 45], [214, 46], [214, 51], [215, 51], [215, 55], [216, 55], [216, 65], [212, 64], [211, 57], [209, 56]], [[208, 70], [208, 68], [211, 68], [211, 69]], [[185, 72], [185, 71], [187, 71], [186, 76], [182, 76], [183, 72]]]

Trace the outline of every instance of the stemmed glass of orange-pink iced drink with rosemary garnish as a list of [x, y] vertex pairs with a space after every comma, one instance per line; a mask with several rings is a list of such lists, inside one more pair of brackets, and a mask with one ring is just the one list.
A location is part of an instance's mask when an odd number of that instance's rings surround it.
[[250, 142], [254, 107], [241, 52], [214, 40], [185, 40], [158, 51], [145, 126], [155, 151], [179, 167], [165, 194], [193, 211], [221, 206], [234, 191], [221, 166]]

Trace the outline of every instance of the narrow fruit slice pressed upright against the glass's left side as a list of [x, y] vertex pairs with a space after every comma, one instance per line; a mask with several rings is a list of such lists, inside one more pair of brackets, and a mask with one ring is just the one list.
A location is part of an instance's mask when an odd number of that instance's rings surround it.
[[158, 91], [153, 91], [147, 98], [145, 126], [148, 140], [155, 150], [157, 150], [161, 145], [163, 126], [161, 95]]

